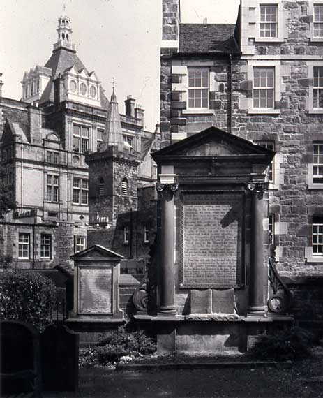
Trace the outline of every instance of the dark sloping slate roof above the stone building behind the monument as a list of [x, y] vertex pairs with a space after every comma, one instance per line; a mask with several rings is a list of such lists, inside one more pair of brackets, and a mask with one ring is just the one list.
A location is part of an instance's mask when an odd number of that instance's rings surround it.
[[179, 53], [239, 52], [234, 24], [180, 24]]

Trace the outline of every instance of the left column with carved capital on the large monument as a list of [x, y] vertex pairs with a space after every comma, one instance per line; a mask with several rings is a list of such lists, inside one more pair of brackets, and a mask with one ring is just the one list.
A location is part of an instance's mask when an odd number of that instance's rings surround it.
[[159, 295], [160, 315], [175, 315], [174, 271], [174, 193], [177, 184], [157, 184], [161, 193], [160, 270]]

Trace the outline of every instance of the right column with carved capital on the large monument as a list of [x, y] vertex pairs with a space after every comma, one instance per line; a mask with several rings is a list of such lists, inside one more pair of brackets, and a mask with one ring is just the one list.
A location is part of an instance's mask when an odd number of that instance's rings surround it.
[[251, 242], [248, 315], [262, 316], [264, 305], [264, 189], [265, 184], [249, 184], [251, 200]]

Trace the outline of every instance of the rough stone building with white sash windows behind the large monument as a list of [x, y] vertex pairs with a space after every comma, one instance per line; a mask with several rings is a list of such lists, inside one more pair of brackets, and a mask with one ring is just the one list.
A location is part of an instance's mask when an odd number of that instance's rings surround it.
[[163, 0], [161, 146], [216, 126], [273, 149], [278, 270], [296, 290], [320, 283], [323, 1], [241, 0], [235, 25], [181, 24], [179, 6]]

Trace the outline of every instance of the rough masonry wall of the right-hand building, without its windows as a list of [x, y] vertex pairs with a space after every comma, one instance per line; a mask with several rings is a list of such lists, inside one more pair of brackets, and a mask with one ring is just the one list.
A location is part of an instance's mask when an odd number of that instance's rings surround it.
[[[313, 142], [322, 142], [322, 110], [313, 110], [313, 66], [322, 66], [323, 41], [313, 40], [309, 1], [274, 1], [281, 42], [257, 38], [259, 2], [243, 0], [240, 59], [207, 55], [172, 57], [162, 48], [160, 67], [160, 129], [162, 145], [216, 126], [276, 151], [270, 184], [269, 214], [273, 219], [278, 270], [284, 275], [323, 274], [323, 257], [312, 255], [313, 214], [323, 214], [323, 185], [313, 184]], [[164, 21], [165, 23], [165, 21]], [[250, 25], [249, 25], [250, 24]], [[255, 27], [252, 27], [255, 24]], [[250, 29], [249, 29], [250, 27]], [[248, 28], [248, 29], [247, 29]], [[244, 36], [243, 36], [244, 35]], [[188, 71], [209, 68], [209, 110], [188, 112]], [[272, 111], [253, 108], [253, 68], [275, 71]], [[230, 96], [232, 101], [230, 101]], [[230, 102], [232, 102], [230, 104]], [[231, 106], [230, 106], [231, 105]], [[231, 109], [232, 108], [232, 109]]]

